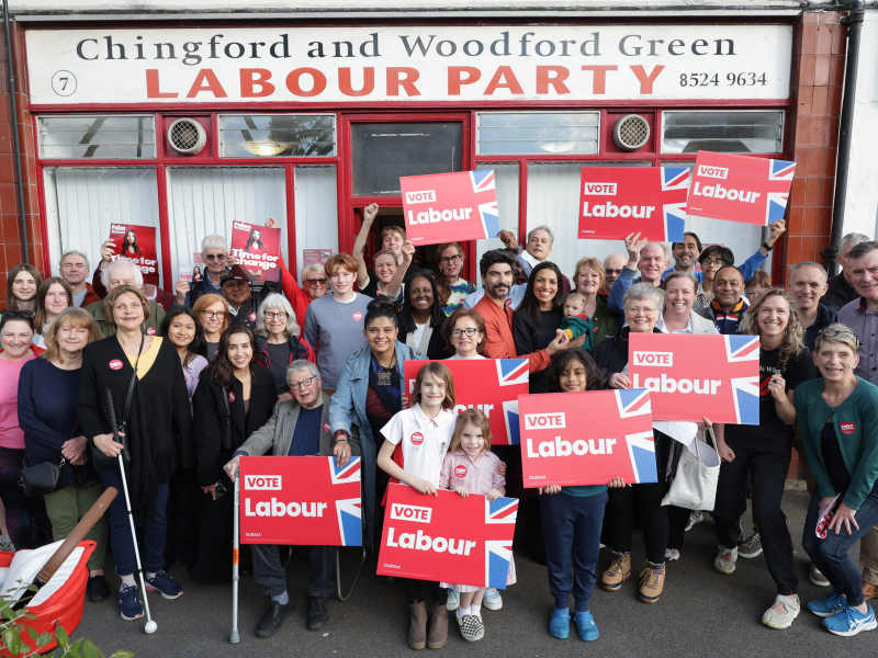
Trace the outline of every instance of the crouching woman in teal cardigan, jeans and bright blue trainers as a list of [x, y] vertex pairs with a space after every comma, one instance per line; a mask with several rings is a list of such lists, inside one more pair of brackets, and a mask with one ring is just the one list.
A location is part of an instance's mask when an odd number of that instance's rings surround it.
[[[878, 627], [863, 597], [859, 569], [847, 552], [878, 522], [878, 387], [854, 374], [857, 337], [844, 325], [820, 332], [813, 352], [821, 378], [796, 389], [796, 413], [817, 480], [804, 522], [802, 548], [833, 593], [808, 604], [835, 635]], [[835, 497], [835, 515], [820, 538], [820, 511]]]

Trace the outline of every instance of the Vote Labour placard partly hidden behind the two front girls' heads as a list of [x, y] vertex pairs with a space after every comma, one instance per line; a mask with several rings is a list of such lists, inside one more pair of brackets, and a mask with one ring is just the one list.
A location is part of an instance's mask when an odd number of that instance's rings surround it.
[[[420, 368], [429, 361], [406, 361], [408, 395], [415, 388]], [[530, 381], [527, 359], [444, 360], [454, 377], [454, 412], [473, 407], [491, 422], [492, 445], [518, 445], [518, 396], [528, 392]]]

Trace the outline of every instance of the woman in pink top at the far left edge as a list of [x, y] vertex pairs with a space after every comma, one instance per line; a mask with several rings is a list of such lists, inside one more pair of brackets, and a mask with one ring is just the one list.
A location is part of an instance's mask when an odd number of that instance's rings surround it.
[[[22, 366], [35, 359], [34, 315], [30, 310], [4, 310], [0, 320], [0, 500], [5, 521], [0, 523], [3, 540], [15, 548], [31, 547], [31, 517], [24, 489], [19, 486], [24, 460], [24, 431], [19, 427], [19, 375]], [[42, 350], [41, 350], [42, 351]], [[0, 519], [3, 522], [3, 519]]]

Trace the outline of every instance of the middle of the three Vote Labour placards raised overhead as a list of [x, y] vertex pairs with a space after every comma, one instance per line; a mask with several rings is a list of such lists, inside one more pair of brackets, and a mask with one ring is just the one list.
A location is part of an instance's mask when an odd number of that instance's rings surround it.
[[583, 167], [579, 239], [679, 242], [688, 191], [688, 167]]

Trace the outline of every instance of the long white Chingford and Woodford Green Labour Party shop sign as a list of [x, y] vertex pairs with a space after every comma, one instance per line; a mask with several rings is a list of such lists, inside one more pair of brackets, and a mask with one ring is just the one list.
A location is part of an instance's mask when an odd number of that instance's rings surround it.
[[33, 105], [789, 97], [789, 25], [27, 30]]

